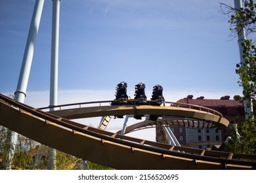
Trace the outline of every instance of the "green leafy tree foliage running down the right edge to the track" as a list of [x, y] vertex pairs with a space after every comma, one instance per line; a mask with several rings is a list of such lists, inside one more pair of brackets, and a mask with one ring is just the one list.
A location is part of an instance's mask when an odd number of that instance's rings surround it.
[[[253, 37], [256, 31], [256, 4], [253, 0], [243, 1], [244, 7], [239, 10], [230, 7], [224, 3], [224, 14], [231, 14], [230, 31], [232, 37], [237, 37], [242, 33], [246, 36]], [[253, 39], [245, 39], [242, 41], [244, 61], [236, 64], [236, 73], [239, 75], [239, 86], [243, 87], [243, 96], [240, 101], [252, 101], [247, 103], [247, 108], [252, 108], [255, 104], [256, 97], [256, 46]], [[234, 125], [231, 133], [231, 140], [226, 145], [226, 150], [230, 152], [241, 152], [247, 154], [256, 154], [256, 127], [255, 127], [255, 111], [245, 118], [244, 122], [240, 122], [237, 127]]]

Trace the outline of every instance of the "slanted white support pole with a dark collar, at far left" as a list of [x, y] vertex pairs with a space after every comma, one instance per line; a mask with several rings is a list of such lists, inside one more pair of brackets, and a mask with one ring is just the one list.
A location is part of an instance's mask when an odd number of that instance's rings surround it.
[[[35, 40], [37, 37], [39, 24], [41, 20], [41, 14], [43, 11], [43, 4], [45, 0], [37, 0], [35, 1], [35, 7], [33, 9], [33, 16], [30, 23], [30, 31], [28, 33], [28, 38], [26, 42], [26, 47], [24, 51], [24, 56], [22, 60], [22, 67], [20, 69], [20, 76], [18, 78], [18, 84], [16, 88], [15, 100], [19, 101], [20, 103], [24, 103], [26, 97], [26, 90], [28, 86], [28, 78], [30, 76], [30, 68], [32, 65], [33, 59], [33, 50], [35, 48]], [[12, 166], [12, 159], [14, 156], [15, 148], [16, 148], [16, 141], [17, 141], [18, 133], [14, 131], [9, 131], [8, 140], [10, 144], [8, 152], [6, 153], [5, 158], [3, 159], [3, 164], [5, 169], [11, 169]]]

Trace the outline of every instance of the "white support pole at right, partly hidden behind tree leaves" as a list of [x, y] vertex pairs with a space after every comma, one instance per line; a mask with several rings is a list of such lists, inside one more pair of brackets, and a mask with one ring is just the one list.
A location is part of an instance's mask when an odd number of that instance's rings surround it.
[[[240, 8], [242, 8], [242, 1], [241, 0], [234, 0], [234, 7], [235, 7], [235, 12], [238, 13], [240, 11]], [[238, 47], [239, 47], [239, 52], [240, 52], [240, 62], [245, 63], [245, 58], [243, 54], [243, 46], [242, 43], [245, 41], [246, 36], [245, 36], [245, 29], [243, 28], [240, 33], [238, 33]], [[248, 106], [249, 105], [249, 106]], [[253, 104], [252, 101], [245, 100], [244, 101], [244, 110], [245, 110], [245, 118], [249, 118], [251, 112], [253, 112]]]

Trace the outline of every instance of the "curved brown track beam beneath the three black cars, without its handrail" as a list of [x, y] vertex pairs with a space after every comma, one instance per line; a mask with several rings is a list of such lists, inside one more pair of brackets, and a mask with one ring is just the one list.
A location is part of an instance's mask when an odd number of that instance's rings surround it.
[[[171, 116], [171, 118], [150, 122], [151, 124], [183, 125], [198, 129], [228, 127], [228, 120], [217, 113], [205, 112], [192, 108], [172, 107], [172, 106], [152, 106], [152, 105], [118, 105], [118, 106], [96, 106], [79, 107], [49, 112], [56, 116], [68, 119], [92, 118], [98, 116], [123, 116], [123, 115], [144, 115], [154, 114], [160, 116]], [[179, 122], [178, 122], [179, 121]], [[151, 124], [148, 125], [151, 125]], [[140, 124], [146, 125], [146, 124]], [[139, 125], [137, 125], [139, 127]]]

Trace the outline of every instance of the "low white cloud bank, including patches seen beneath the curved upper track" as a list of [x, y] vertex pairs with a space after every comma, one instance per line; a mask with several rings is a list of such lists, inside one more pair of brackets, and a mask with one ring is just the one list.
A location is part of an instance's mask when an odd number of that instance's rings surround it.
[[[58, 91], [58, 105], [68, 104], [68, 103], [81, 103], [81, 102], [89, 102], [89, 101], [104, 101], [104, 100], [112, 100], [115, 98], [115, 90], [59, 90]], [[132, 90], [127, 90], [127, 94], [133, 96]], [[10, 95], [9, 93], [3, 93], [4, 95]], [[151, 91], [146, 91], [146, 96], [150, 99], [152, 93]], [[234, 95], [241, 95], [240, 90], [216, 90], [216, 91], [207, 91], [207, 90], [163, 90], [163, 96], [166, 101], [176, 102], [179, 99], [186, 97], [187, 95], [194, 95], [194, 98], [204, 96], [205, 99], [220, 99], [224, 95], [230, 95], [230, 99], [234, 97]], [[37, 92], [27, 92], [27, 97], [25, 99], [25, 103], [35, 108], [47, 107], [49, 106], [49, 91], [37, 91]], [[93, 127], [97, 127], [100, 123], [100, 117], [97, 118], [86, 118], [75, 120], [75, 122], [79, 122], [81, 124], [90, 125]], [[120, 127], [123, 126], [125, 118], [123, 119], [112, 119], [108, 127], [111, 131], [115, 133], [120, 130]], [[127, 125], [132, 125], [140, 120], [135, 120], [133, 118], [129, 118]], [[114, 128], [114, 129], [112, 129]], [[140, 131], [136, 131], [133, 133], [127, 134], [131, 137], [137, 137], [140, 139], [146, 139], [148, 141], [155, 141], [156, 139], [156, 131], [154, 128], [144, 129]]]

